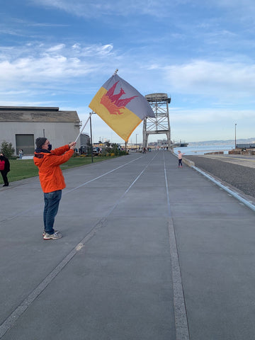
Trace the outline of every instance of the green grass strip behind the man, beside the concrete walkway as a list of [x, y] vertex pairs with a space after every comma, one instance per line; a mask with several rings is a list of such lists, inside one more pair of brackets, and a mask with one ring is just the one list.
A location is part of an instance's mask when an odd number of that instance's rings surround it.
[[[106, 159], [113, 159], [114, 157], [93, 157], [94, 163], [102, 162]], [[21, 179], [29, 179], [30, 177], [38, 176], [38, 167], [35, 166], [33, 159], [9, 159], [11, 171], [8, 172], [8, 181], [21, 181]], [[75, 166], [82, 166], [91, 164], [91, 157], [72, 157], [66, 163], [62, 164], [62, 170], [74, 168]], [[0, 184], [4, 183], [2, 176], [0, 176]]]

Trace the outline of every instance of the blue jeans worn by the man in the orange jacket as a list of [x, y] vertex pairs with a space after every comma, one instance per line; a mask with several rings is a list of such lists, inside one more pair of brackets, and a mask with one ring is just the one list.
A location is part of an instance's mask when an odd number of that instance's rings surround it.
[[43, 211], [43, 222], [45, 226], [45, 232], [47, 232], [47, 234], [54, 233], [53, 225], [57, 215], [58, 207], [60, 205], [61, 196], [62, 190], [44, 193], [45, 208]]

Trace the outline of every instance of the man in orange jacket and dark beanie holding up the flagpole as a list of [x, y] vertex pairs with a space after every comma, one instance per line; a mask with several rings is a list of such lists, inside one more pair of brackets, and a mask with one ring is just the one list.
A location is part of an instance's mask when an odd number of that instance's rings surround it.
[[76, 142], [52, 149], [52, 145], [45, 137], [35, 140], [36, 149], [34, 163], [39, 169], [39, 179], [44, 193], [45, 208], [43, 211], [44, 232], [43, 239], [60, 239], [62, 235], [53, 229], [57, 210], [60, 205], [62, 189], [65, 188], [64, 176], [60, 164], [68, 161], [74, 154]]

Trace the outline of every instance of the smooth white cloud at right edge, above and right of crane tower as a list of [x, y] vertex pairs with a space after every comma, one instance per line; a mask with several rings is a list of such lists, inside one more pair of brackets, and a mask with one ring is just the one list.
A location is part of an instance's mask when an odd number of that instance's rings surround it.
[[194, 60], [164, 67], [171, 89], [200, 96], [254, 96], [255, 64]]

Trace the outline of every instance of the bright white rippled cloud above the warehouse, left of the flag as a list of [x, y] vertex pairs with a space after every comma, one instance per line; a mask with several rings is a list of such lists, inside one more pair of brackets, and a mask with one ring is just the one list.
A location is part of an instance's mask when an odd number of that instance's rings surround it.
[[[72, 46], [28, 43], [16, 49], [0, 47], [0, 89], [8, 90], [24, 83], [50, 86], [59, 81], [77, 81], [108, 61], [113, 45]], [[103, 57], [103, 60], [102, 60]], [[33, 87], [33, 86], [32, 86]]]

